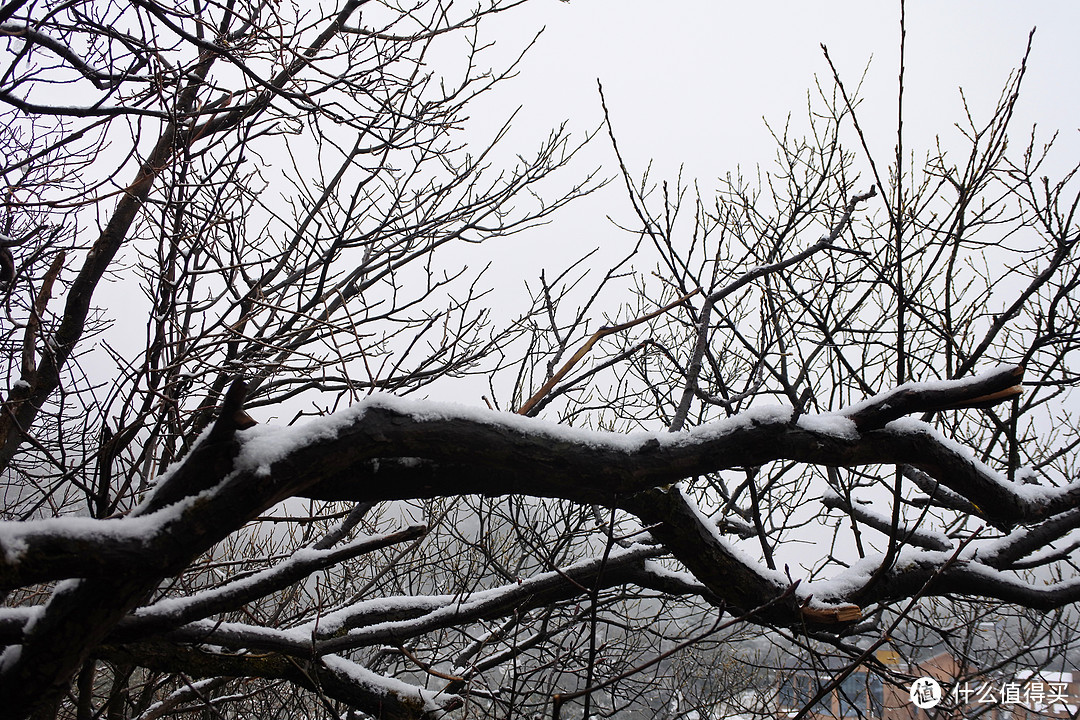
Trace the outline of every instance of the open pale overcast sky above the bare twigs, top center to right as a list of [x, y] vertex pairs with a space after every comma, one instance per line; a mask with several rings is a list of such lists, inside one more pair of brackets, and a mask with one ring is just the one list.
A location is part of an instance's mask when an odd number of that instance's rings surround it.
[[[895, 142], [899, 18], [899, 1], [536, 0], [485, 30], [509, 54], [545, 27], [521, 76], [473, 109], [473, 126], [490, 130], [522, 105], [511, 138], [515, 150], [531, 149], [564, 120], [584, 132], [602, 117], [600, 80], [632, 172], [652, 160], [656, 179], [673, 179], [685, 165], [686, 176], [708, 188], [737, 165], [752, 169], [771, 160], [774, 148], [762, 118], [774, 126], [788, 112], [805, 121], [815, 77], [831, 82], [821, 51], [825, 43], [849, 87], [869, 64], [861, 119], [883, 167]], [[989, 117], [1032, 27], [1038, 29], [1015, 142], [1036, 122], [1048, 138], [1061, 130], [1057, 166], [1076, 162], [1080, 4], [1070, 0], [907, 3], [905, 145], [917, 159], [935, 136], [946, 147], [957, 137], [959, 87], [976, 119]], [[615, 172], [610, 148], [600, 140], [581, 171], [603, 163]], [[605, 215], [629, 220], [618, 187], [581, 203], [550, 232], [534, 235], [531, 247], [518, 246], [521, 257], [534, 256], [528, 262], [539, 259], [551, 268], [555, 237], [575, 235], [577, 247], [624, 241]]]

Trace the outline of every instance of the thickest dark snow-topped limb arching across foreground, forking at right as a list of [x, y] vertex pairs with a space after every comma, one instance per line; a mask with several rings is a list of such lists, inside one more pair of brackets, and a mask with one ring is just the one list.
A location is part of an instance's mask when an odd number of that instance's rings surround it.
[[[712, 598], [742, 609], [772, 601], [789, 583], [733, 552], [677, 488], [656, 488], [781, 459], [833, 466], [910, 464], [962, 495], [985, 518], [1001, 527], [1036, 524], [1066, 513], [1069, 521], [1063, 527], [1071, 527], [1075, 510], [1080, 507], [1080, 485], [1059, 489], [1016, 485], [924, 423], [894, 421], [860, 432], [851, 419], [875, 417], [866, 411], [873, 408], [878, 421], [867, 422], [879, 425], [883, 415], [896, 411], [885, 407], [892, 405], [889, 398], [894, 397], [900, 398], [902, 408], [913, 412], [926, 409], [923, 400], [937, 407], [982, 402], [980, 398], [987, 392], [998, 392], [993, 388], [986, 391], [987, 383], [1016, 380], [1018, 370], [1007, 368], [975, 381], [939, 383], [929, 399], [909, 386], [901, 395], [878, 396], [850, 413], [834, 416], [842, 421], [839, 424], [822, 422], [820, 417], [793, 420], [789, 409], [771, 408], [687, 433], [630, 436], [391, 397], [370, 398], [307, 426], [260, 425], [237, 432], [235, 410], [242, 397], [242, 388], [237, 385], [230, 392], [220, 424], [168, 473], [158, 492], [133, 517], [0, 524], [0, 578], [9, 586], [31, 578], [59, 576], [62, 569], [70, 565], [65, 566], [58, 556], [69, 551], [104, 558], [96, 566], [96, 578], [63, 585], [38, 621], [26, 628], [21, 649], [5, 655], [0, 701], [9, 708], [28, 708], [37, 705], [41, 696], [58, 696], [87, 654], [108, 641], [124, 616], [161, 579], [180, 572], [246, 519], [296, 495], [375, 502], [519, 493], [621, 506], [636, 513], [646, 525], [656, 525], [652, 533], [662, 545], [650, 551], [671, 552], [697, 575]], [[864, 415], [859, 415], [861, 411]], [[68, 527], [82, 527], [79, 524], [89, 525], [81, 531], [68, 532]], [[152, 532], [145, 532], [148, 526]], [[102, 532], [94, 532], [94, 528]], [[133, 535], [109, 528], [144, 531], [143, 560], [129, 563], [127, 557], [138, 555], [131, 544]], [[936, 572], [931, 568], [935, 556], [919, 557], [919, 562], [883, 573], [861, 600], [893, 597], [909, 588], [910, 583], [927, 582], [927, 573]], [[38, 563], [49, 568], [48, 572], [33, 570]], [[996, 590], [989, 575], [978, 575], [977, 566], [968, 559], [942, 573], [933, 587], [947, 592], [957, 586], [954, 583], [975, 576], [983, 581], [969, 585], [969, 592], [977, 587], [991, 597], [1030, 607], [1080, 596], [1077, 584], [1044, 590], [1015, 583]], [[567, 590], [556, 587], [555, 592]], [[543, 596], [538, 587], [529, 588], [529, 593], [530, 597]], [[824, 598], [825, 604], [808, 604], [810, 590], [800, 589], [791, 601], [770, 608], [769, 617], [762, 620], [783, 624], [848, 622], [859, 612], [848, 598], [858, 595], [851, 592], [843, 597]], [[436, 612], [428, 622], [438, 627], [443, 622], [499, 615], [521, 604], [521, 600], [503, 600], [511, 604], [477, 606], [463, 616], [448, 620]], [[422, 629], [427, 623], [416, 627]], [[191, 629], [214, 628], [199, 628], [195, 624]], [[375, 636], [367, 637], [372, 631], [323, 638], [318, 640], [318, 651], [337, 652], [360, 647], [357, 642], [378, 641]], [[228, 628], [218, 628], [219, 638], [228, 635]], [[393, 639], [388, 636], [383, 641]], [[238, 641], [248, 643], [241, 647], [256, 647], [247, 631]]]

